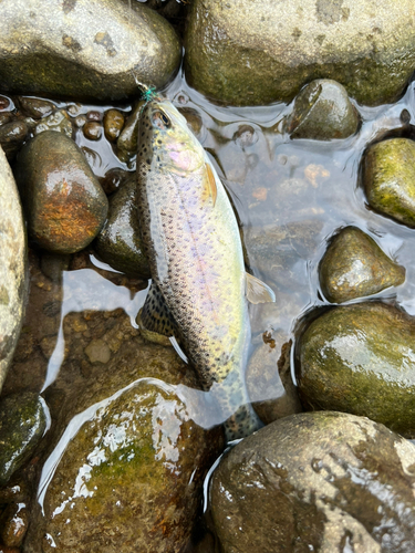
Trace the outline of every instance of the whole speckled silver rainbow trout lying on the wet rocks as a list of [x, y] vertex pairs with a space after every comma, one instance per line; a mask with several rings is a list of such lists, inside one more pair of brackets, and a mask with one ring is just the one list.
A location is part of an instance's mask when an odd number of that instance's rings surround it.
[[[258, 428], [243, 384], [247, 296], [274, 301], [245, 271], [238, 223], [225, 188], [185, 117], [167, 100], [144, 106], [138, 127], [137, 204], [152, 290], [141, 324], [174, 335], [205, 389], [218, 397], [228, 440]], [[160, 301], [164, 307], [159, 305]], [[164, 310], [164, 313], [163, 313]]]

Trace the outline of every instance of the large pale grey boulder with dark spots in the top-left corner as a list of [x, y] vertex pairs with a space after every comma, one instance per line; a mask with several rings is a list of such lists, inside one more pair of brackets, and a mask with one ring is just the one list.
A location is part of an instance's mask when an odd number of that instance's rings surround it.
[[172, 25], [135, 1], [4, 0], [0, 36], [4, 92], [125, 98], [136, 79], [163, 87], [180, 62]]

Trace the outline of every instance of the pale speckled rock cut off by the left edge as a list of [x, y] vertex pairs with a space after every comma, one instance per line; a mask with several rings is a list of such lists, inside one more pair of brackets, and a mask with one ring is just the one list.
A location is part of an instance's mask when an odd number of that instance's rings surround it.
[[0, 148], [0, 390], [19, 340], [28, 295], [28, 252], [19, 192]]

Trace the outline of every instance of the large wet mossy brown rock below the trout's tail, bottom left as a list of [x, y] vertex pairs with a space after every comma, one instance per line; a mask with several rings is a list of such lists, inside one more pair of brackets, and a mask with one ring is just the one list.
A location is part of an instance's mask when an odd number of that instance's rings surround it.
[[198, 427], [160, 380], [138, 379], [92, 405], [43, 468], [44, 517], [24, 551], [178, 553], [219, 436]]

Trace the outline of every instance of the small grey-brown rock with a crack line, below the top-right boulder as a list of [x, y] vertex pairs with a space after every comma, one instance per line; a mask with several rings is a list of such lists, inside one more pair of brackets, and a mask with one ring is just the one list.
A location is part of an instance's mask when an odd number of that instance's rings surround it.
[[318, 79], [297, 96], [287, 123], [291, 138], [346, 138], [359, 127], [359, 114], [340, 83]]

